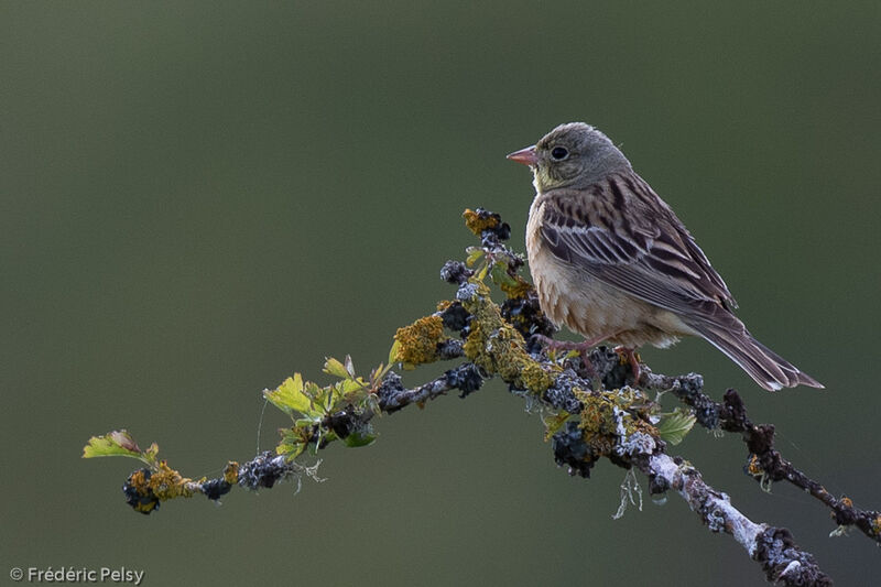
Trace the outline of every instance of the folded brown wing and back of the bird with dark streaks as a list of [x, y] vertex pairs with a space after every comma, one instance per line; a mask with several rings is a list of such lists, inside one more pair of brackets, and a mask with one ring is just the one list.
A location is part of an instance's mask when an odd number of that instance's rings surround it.
[[544, 199], [542, 237], [557, 258], [678, 314], [716, 322], [719, 309], [737, 307], [673, 210], [635, 174]]

